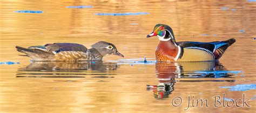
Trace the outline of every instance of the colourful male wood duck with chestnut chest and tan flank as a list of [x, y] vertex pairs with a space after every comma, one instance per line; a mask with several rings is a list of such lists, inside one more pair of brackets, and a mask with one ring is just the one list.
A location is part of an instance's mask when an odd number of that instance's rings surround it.
[[164, 24], [154, 26], [147, 37], [158, 36], [157, 61], [197, 62], [218, 60], [235, 39], [215, 42], [176, 42], [172, 28]]

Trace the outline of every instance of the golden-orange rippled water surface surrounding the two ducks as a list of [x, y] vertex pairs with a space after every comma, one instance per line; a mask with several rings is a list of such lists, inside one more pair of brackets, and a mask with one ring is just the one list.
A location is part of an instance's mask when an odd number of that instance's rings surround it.
[[[93, 7], [66, 8], [77, 5]], [[255, 2], [247, 1], [0, 1], [0, 62], [21, 63], [0, 65], [0, 112], [181, 112], [186, 104], [173, 107], [175, 96], [186, 99], [194, 95], [209, 103], [213, 103], [213, 96], [223, 93], [228, 99], [241, 99], [243, 93], [252, 98], [253, 89], [234, 92], [219, 87], [255, 84], [255, 7]], [[43, 13], [14, 13], [18, 10]], [[150, 14], [95, 15], [113, 12]], [[177, 41], [233, 37], [237, 42], [217, 64], [107, 62], [120, 61], [117, 56], [107, 56], [97, 63], [30, 62], [30, 58], [18, 56], [15, 49], [54, 42], [80, 43], [90, 48], [95, 42], [107, 41], [115, 44], [125, 59], [154, 58], [158, 39], [146, 39], [146, 34], [158, 23], [170, 25]], [[214, 75], [218, 70], [243, 73], [224, 73], [218, 78]], [[204, 71], [213, 73], [197, 73]], [[173, 88], [167, 92], [146, 90], [146, 85], [158, 84]], [[251, 108], [210, 106], [188, 111], [254, 111], [255, 100], [249, 103]]]

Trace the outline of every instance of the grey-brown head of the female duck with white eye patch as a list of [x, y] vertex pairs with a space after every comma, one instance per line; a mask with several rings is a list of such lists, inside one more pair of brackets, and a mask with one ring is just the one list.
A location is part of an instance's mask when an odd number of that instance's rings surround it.
[[109, 42], [99, 41], [93, 44], [92, 48], [95, 48], [102, 56], [113, 54], [113, 55], [124, 57], [124, 55], [120, 54], [120, 52], [117, 51], [116, 46], [114, 46], [114, 44]]

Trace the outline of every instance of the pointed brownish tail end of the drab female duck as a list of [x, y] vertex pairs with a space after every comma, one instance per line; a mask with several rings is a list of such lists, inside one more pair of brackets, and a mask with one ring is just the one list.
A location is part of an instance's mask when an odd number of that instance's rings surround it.
[[27, 49], [19, 46], [16, 46], [15, 48], [17, 49], [17, 51], [22, 52], [27, 56], [31, 57], [33, 61], [44, 61], [45, 59], [54, 56], [54, 54], [39, 49]]

